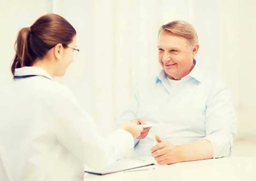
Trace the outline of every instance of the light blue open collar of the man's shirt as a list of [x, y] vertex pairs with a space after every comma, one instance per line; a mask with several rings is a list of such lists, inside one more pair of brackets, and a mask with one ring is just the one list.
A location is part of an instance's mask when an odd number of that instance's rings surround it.
[[[165, 72], [164, 69], [161, 70], [161, 72], [158, 74], [157, 78], [156, 78], [156, 84], [159, 82], [159, 81], [163, 81], [165, 78], [167, 77], [167, 74]], [[202, 69], [200, 67], [200, 64], [196, 62], [196, 65], [194, 66], [194, 68], [191, 70], [191, 72], [185, 76], [185, 77], [192, 77], [194, 78], [195, 80], [199, 81], [199, 82], [203, 82], [204, 81], [204, 76], [203, 76], [203, 73], [202, 73]], [[185, 78], [183, 77], [183, 78]], [[182, 78], [182, 79], [183, 79]]]

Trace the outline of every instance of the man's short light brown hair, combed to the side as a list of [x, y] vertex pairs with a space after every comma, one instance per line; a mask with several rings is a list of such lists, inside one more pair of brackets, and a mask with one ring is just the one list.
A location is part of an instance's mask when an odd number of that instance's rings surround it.
[[167, 32], [173, 33], [174, 35], [186, 38], [188, 43], [189, 43], [189, 47], [191, 49], [193, 49], [195, 44], [198, 43], [198, 36], [197, 36], [196, 30], [188, 22], [185, 22], [185, 21], [173, 21], [173, 22], [164, 24], [160, 28], [160, 30], [158, 32], [158, 36], [159, 36], [159, 34], [160, 34], [160, 32], [162, 30], [165, 30]]

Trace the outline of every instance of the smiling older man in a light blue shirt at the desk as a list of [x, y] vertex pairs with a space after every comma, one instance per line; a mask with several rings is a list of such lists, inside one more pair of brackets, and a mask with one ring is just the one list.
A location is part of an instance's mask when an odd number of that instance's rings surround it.
[[135, 155], [152, 155], [159, 164], [230, 155], [236, 113], [228, 88], [195, 60], [199, 44], [193, 26], [163, 25], [157, 48], [162, 71], [136, 89], [117, 121], [162, 124], [144, 128], [135, 139]]

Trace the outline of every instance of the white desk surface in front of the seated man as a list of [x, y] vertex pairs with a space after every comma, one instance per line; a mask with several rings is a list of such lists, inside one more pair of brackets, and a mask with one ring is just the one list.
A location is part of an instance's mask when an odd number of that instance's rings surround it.
[[[143, 159], [154, 160], [150, 157]], [[118, 172], [104, 176], [84, 174], [84, 181], [256, 181], [256, 157], [157, 164], [139, 169], [150, 170]]]

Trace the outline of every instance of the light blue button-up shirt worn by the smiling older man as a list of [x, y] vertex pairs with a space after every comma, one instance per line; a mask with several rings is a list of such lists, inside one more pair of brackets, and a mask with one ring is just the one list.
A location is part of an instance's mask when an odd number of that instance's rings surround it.
[[180, 81], [169, 80], [162, 70], [135, 90], [117, 124], [135, 118], [163, 124], [152, 127], [146, 138], [135, 140], [135, 156], [151, 154], [155, 134], [174, 145], [206, 139], [212, 144], [214, 158], [231, 154], [237, 127], [231, 94], [222, 81], [197, 64]]

